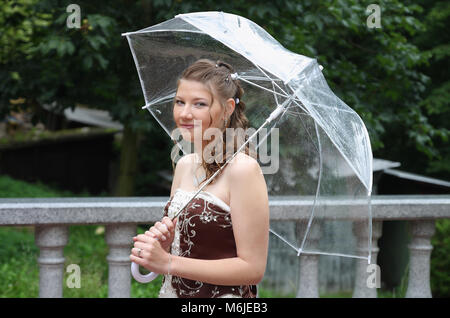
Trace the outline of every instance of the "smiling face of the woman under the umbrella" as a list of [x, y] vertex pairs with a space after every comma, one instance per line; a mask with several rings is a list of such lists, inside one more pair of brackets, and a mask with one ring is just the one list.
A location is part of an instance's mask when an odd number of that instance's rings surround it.
[[[194, 141], [197, 134], [208, 128], [222, 128], [224, 111], [218, 96], [214, 96], [201, 82], [181, 79], [175, 96], [173, 117], [185, 140]], [[201, 139], [203, 140], [203, 138]]]

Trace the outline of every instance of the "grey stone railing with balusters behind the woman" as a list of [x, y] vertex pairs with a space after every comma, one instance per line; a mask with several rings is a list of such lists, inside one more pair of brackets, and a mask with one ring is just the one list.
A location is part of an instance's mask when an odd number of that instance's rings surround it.
[[[160, 219], [166, 197], [138, 198], [58, 198], [0, 199], [0, 226], [34, 226], [38, 258], [39, 297], [62, 297], [64, 255], [68, 226], [104, 224], [109, 246], [109, 297], [130, 297], [130, 247], [137, 224]], [[350, 201], [348, 205], [352, 205]], [[355, 203], [356, 205], [357, 203]], [[311, 201], [302, 198], [270, 198], [271, 220], [302, 222]], [[406, 297], [431, 297], [431, 237], [436, 219], [450, 218], [450, 196], [373, 196], [372, 259], [376, 261], [377, 240], [383, 220], [411, 222], [409, 283]], [[361, 252], [367, 252], [365, 228], [355, 222], [354, 233]], [[313, 234], [311, 234], [313, 235]], [[318, 297], [318, 256], [300, 256], [297, 297]], [[376, 288], [367, 287], [367, 261], [358, 260], [353, 297], [376, 297]]]

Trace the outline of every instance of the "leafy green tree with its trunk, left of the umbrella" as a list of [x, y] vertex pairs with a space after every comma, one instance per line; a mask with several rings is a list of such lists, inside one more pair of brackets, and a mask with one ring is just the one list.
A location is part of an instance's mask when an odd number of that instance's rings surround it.
[[[54, 105], [54, 111], [77, 103], [109, 110], [125, 127], [116, 194], [131, 195], [137, 132], [152, 130], [153, 123], [139, 111], [143, 97], [121, 33], [143, 27], [134, 21], [151, 23], [151, 16], [148, 21], [138, 19], [142, 6], [129, 1], [100, 10], [90, 1], [78, 4], [80, 28], [67, 27], [64, 1], [9, 1], [2, 9], [7, 36], [1, 38], [0, 115], [12, 108], [31, 108], [36, 122], [44, 104]], [[11, 103], [19, 97], [23, 103]]]

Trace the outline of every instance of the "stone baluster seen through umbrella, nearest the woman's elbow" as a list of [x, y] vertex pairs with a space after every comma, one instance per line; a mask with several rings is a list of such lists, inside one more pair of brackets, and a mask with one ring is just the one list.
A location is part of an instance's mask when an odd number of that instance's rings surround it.
[[[308, 220], [297, 222], [297, 236], [301, 246]], [[308, 247], [314, 248], [321, 236], [321, 225], [316, 220], [308, 233]], [[297, 298], [319, 298], [319, 255], [300, 254], [300, 273]]]

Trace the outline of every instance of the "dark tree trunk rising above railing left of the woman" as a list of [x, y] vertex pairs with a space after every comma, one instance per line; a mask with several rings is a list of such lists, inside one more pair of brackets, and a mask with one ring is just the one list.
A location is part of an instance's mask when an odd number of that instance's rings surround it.
[[138, 133], [133, 131], [130, 124], [124, 126], [122, 147], [120, 153], [120, 168], [114, 196], [132, 196], [137, 170]]

